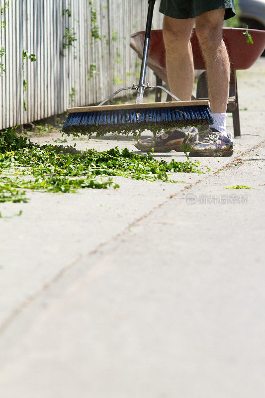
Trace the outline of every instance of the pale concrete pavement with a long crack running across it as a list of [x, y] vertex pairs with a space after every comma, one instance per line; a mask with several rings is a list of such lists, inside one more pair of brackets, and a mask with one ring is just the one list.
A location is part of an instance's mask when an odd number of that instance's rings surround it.
[[[210, 172], [0, 205], [2, 397], [264, 396], [264, 70]], [[67, 144], [134, 148], [107, 138]]]

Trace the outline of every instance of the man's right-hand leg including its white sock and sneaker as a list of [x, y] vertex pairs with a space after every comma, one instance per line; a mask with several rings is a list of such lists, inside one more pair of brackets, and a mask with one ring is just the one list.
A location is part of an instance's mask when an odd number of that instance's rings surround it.
[[230, 63], [222, 40], [224, 9], [204, 12], [196, 17], [196, 33], [205, 59], [208, 92], [214, 124], [198, 143], [191, 145], [189, 156], [231, 156], [233, 142], [226, 130]]

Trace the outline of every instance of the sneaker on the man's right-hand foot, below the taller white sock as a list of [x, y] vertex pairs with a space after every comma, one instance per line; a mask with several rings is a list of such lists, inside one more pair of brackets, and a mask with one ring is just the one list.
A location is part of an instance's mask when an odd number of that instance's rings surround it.
[[199, 141], [191, 143], [189, 156], [231, 156], [233, 154], [232, 134], [228, 137], [209, 127], [199, 132]]

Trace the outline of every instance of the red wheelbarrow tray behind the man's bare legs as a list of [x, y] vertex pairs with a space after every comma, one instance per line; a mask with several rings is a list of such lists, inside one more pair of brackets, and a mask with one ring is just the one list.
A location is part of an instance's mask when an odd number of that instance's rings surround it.
[[[229, 54], [230, 65], [232, 70], [248, 69], [261, 56], [265, 49], [265, 31], [257, 29], [249, 29], [249, 33], [253, 38], [253, 44], [248, 44], [246, 35], [243, 33], [246, 29], [241, 28], [223, 28], [223, 39]], [[143, 51], [144, 31], [136, 32], [131, 35], [131, 47], [140, 56]], [[201, 54], [195, 28], [192, 29], [191, 45], [193, 52], [194, 69], [205, 69], [205, 63]], [[152, 30], [150, 37], [148, 64], [160, 69], [160, 77], [167, 82], [166, 78], [166, 61], [165, 46], [163, 41], [162, 29]], [[154, 72], [158, 72], [154, 70]], [[162, 75], [164, 76], [161, 76]]]

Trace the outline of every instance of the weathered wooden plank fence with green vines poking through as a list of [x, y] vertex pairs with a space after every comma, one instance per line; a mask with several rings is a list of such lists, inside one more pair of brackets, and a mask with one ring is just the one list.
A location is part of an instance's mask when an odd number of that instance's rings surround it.
[[[158, 6], [153, 28], [162, 25]], [[137, 83], [130, 34], [145, 28], [147, 8], [147, 0], [0, 0], [0, 129]]]

